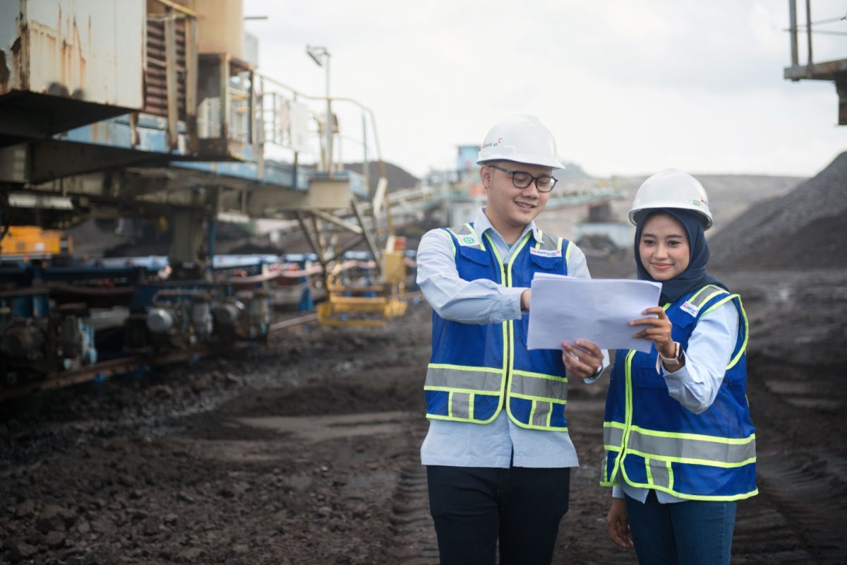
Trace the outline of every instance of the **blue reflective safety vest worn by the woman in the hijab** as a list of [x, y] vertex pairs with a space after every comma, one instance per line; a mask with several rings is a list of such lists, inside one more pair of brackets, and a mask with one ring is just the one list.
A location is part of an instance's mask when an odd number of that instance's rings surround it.
[[715, 402], [695, 414], [667, 392], [650, 353], [616, 353], [606, 396], [601, 485], [626, 482], [700, 501], [734, 501], [756, 489], [756, 433], [747, 385], [747, 316], [738, 295], [714, 285], [666, 305], [671, 335], [683, 350], [700, 318], [726, 302], [739, 311], [739, 333]]

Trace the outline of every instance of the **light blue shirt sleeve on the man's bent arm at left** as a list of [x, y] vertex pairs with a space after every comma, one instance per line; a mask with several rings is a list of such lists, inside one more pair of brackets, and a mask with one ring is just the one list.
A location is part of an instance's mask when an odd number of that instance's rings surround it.
[[430, 230], [418, 246], [418, 286], [443, 318], [463, 324], [497, 324], [521, 317], [527, 290], [493, 280], [464, 280], [456, 269], [453, 244], [445, 230]]

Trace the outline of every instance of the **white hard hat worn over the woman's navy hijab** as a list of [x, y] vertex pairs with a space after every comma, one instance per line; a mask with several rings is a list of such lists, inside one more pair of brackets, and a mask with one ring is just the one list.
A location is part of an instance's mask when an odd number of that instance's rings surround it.
[[638, 224], [639, 212], [650, 208], [681, 208], [699, 214], [704, 228], [711, 228], [711, 210], [706, 189], [690, 174], [664, 169], [644, 181], [635, 194], [629, 221]]

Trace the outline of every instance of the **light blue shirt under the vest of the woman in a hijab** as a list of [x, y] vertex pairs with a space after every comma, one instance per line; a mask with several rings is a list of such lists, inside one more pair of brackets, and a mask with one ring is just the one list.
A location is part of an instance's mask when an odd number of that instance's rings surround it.
[[[656, 369], [664, 376], [671, 398], [695, 414], [705, 412], [715, 402], [738, 339], [738, 330], [739, 312], [733, 302], [726, 302], [700, 317], [685, 348], [685, 365], [673, 373], [661, 364]], [[612, 496], [623, 498], [626, 493], [637, 501], [647, 500], [649, 489], [620, 482], [620, 486], [612, 487]], [[662, 504], [685, 501], [662, 490], [656, 490], [656, 499]]]

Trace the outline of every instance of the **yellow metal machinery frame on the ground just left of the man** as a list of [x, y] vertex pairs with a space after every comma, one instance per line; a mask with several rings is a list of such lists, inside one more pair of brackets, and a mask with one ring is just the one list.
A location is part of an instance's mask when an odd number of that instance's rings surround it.
[[[326, 302], [318, 304], [318, 322], [324, 325], [380, 326], [406, 313], [402, 299], [406, 284], [406, 257], [402, 238], [394, 240], [391, 251], [382, 252], [382, 277], [378, 284], [356, 285], [361, 268], [351, 263], [336, 263], [325, 277]], [[400, 245], [398, 245], [400, 244]], [[400, 248], [398, 248], [400, 247]]]

